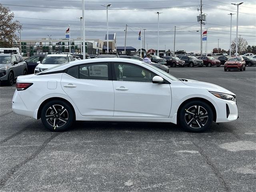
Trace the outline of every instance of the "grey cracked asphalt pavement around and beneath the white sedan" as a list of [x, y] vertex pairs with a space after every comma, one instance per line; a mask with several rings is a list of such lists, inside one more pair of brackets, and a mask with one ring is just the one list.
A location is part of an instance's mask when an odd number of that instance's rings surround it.
[[256, 191], [256, 67], [170, 68], [237, 94], [240, 118], [188, 133], [168, 123], [76, 122], [48, 132], [0, 87], [0, 191]]

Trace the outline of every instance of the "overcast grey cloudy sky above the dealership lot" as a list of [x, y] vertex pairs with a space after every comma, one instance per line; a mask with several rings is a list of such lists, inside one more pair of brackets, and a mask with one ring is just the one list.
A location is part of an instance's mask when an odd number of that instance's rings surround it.
[[[22, 39], [65, 38], [66, 24], [71, 38], [80, 37], [82, 0], [0, 0], [8, 6], [23, 26]], [[204, 28], [208, 28], [208, 52], [219, 47], [229, 49], [230, 15], [236, 13], [238, 3], [232, 0], [203, 0], [203, 13], [207, 15]], [[176, 50], [200, 51], [200, 0], [85, 0], [86, 38], [104, 39], [106, 34], [106, 8], [101, 4], [112, 4], [108, 11], [109, 33], [116, 33], [117, 46], [124, 46], [125, 26], [128, 25], [126, 46], [140, 48], [138, 33], [146, 29], [145, 48], [157, 49], [157, 14], [160, 22], [160, 50], [173, 50], [174, 26], [176, 26]], [[16, 6], [13, 6], [16, 5]], [[38, 8], [40, 6], [41, 8]], [[44, 20], [42, 20], [44, 19]], [[142, 30], [142, 40], [144, 40]], [[256, 4], [246, 0], [239, 6], [238, 35], [249, 45], [256, 45]], [[232, 39], [236, 37], [236, 15], [232, 17]], [[143, 44], [142, 44], [143, 48]], [[203, 42], [203, 52], [205, 41]]]

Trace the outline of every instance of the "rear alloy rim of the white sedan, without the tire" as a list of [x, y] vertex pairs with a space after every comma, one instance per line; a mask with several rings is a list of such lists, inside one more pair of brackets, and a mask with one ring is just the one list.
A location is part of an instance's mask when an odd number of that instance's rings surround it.
[[55, 130], [64, 126], [68, 121], [68, 110], [61, 105], [52, 105], [46, 110], [45, 118]]

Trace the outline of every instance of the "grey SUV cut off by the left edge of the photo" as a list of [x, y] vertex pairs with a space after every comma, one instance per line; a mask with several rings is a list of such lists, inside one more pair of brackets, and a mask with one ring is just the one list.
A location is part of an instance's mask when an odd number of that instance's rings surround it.
[[18, 54], [0, 54], [0, 82], [7, 81], [12, 85], [20, 75], [28, 72], [27, 64]]

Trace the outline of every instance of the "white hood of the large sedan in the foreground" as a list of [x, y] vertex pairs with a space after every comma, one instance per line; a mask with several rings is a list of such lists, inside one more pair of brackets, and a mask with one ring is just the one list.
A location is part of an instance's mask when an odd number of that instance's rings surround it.
[[185, 81], [182, 81], [184, 84], [188, 85], [188, 86], [194, 86], [194, 87], [200, 87], [200, 88], [205, 88], [208, 91], [214, 91], [214, 92], [220, 92], [220, 93], [226, 93], [226, 94], [230, 94], [230, 95], [236, 95], [234, 93], [232, 93], [231, 91], [212, 84], [212, 83], [206, 83], [206, 82], [202, 82], [202, 81], [196, 81], [196, 80], [191, 80], [191, 79], [185, 79]]

